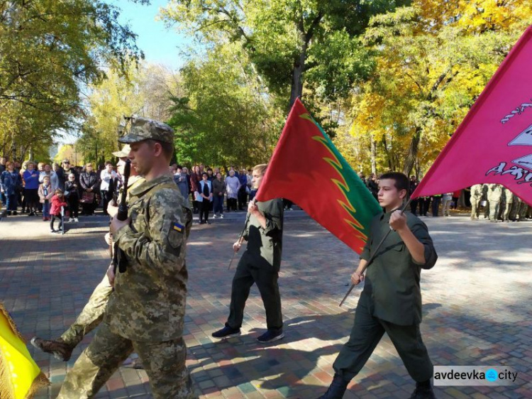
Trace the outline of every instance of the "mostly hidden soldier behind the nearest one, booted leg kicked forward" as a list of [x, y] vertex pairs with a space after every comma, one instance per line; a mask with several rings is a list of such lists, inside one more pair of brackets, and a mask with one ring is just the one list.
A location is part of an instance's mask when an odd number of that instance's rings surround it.
[[[131, 148], [126, 145], [121, 151], [116, 151], [113, 153], [113, 155], [120, 158], [116, 166], [118, 168], [118, 173], [120, 173], [122, 176], [124, 173], [123, 168], [124, 165], [126, 165], [126, 159], [130, 151]], [[144, 178], [137, 174], [135, 168], [131, 168], [131, 173], [128, 180], [128, 189], [141, 184], [143, 181]], [[123, 187], [121, 187], [120, 190], [122, 191]], [[121, 192], [119, 194], [121, 194]], [[118, 200], [120, 200], [120, 197], [121, 195], [118, 195]], [[111, 215], [116, 214], [116, 207], [109, 207], [108, 212]], [[106, 241], [107, 244], [111, 245], [109, 240], [110, 238], [108, 233], [106, 234]], [[48, 354], [53, 354], [58, 360], [70, 360], [72, 351], [77, 344], [84, 339], [85, 335], [89, 334], [89, 332], [92, 332], [92, 330], [95, 329], [104, 318], [105, 307], [112, 291], [113, 287], [111, 286], [111, 283], [109, 283], [107, 274], [105, 274], [104, 278], [92, 292], [89, 302], [87, 302], [87, 305], [85, 305], [76, 321], [70, 325], [67, 331], [65, 331], [60, 338], [48, 340], [41, 339], [39, 337], [33, 337], [31, 339], [31, 344], [41, 351], [44, 351]]]

